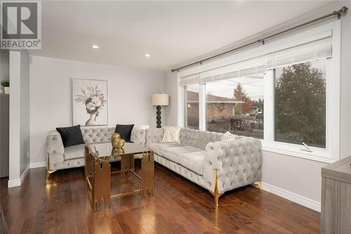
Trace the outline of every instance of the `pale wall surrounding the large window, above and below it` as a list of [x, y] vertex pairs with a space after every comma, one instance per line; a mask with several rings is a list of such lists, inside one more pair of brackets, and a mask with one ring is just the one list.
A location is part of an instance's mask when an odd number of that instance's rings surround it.
[[[324, 8], [320, 8], [317, 11], [309, 13], [308, 15], [303, 15], [301, 18], [296, 18], [291, 20], [291, 22], [284, 22], [284, 24], [274, 27], [273, 29], [267, 30], [267, 32], [260, 32], [250, 39], [244, 39], [244, 41], [253, 41], [255, 39], [263, 37], [265, 34], [270, 34], [272, 32], [277, 32], [279, 30], [292, 27], [293, 25], [298, 25], [299, 23], [306, 22], [312, 18], [317, 18], [320, 15], [326, 13], [331, 13], [336, 11], [342, 6], [347, 6], [351, 8], [350, 1], [342, 1], [329, 4]], [[350, 10], [349, 10], [350, 11]], [[336, 20], [336, 18], [330, 19]], [[329, 20], [329, 21], [330, 21]], [[313, 27], [313, 26], [312, 26]], [[343, 16], [341, 19], [341, 90], [340, 90], [340, 157], [347, 157], [351, 155], [351, 13]], [[238, 42], [234, 46], [239, 45]], [[230, 48], [228, 46], [225, 48], [227, 50]], [[223, 51], [220, 48], [218, 51]], [[217, 51], [217, 52], [218, 52]], [[210, 55], [216, 54], [216, 51], [208, 53]], [[201, 56], [204, 58], [204, 56]], [[194, 62], [197, 59], [187, 61]], [[182, 63], [180, 65], [185, 65]], [[176, 67], [174, 67], [176, 68]], [[176, 82], [176, 77], [174, 77], [174, 72], [165, 72], [165, 90], [168, 93], [176, 93], [178, 89], [178, 84]], [[173, 98], [174, 99], [174, 98]], [[177, 121], [174, 119], [178, 111], [178, 105], [171, 103], [167, 110], [166, 119], [168, 122], [166, 124], [176, 124]], [[172, 114], [171, 114], [172, 113]], [[322, 162], [316, 162], [312, 160], [305, 160], [298, 157], [292, 157], [289, 155], [280, 155], [274, 152], [263, 152], [263, 188], [270, 190], [273, 193], [284, 196], [288, 199], [294, 200], [295, 202], [300, 202], [307, 207], [312, 209], [320, 209], [321, 201], [321, 168], [326, 164]]]

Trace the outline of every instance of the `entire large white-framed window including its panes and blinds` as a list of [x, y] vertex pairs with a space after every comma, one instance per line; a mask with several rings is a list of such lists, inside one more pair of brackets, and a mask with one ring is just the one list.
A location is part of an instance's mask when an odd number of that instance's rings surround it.
[[263, 150], [284, 155], [338, 160], [339, 43], [332, 22], [179, 72], [185, 126], [260, 138]]

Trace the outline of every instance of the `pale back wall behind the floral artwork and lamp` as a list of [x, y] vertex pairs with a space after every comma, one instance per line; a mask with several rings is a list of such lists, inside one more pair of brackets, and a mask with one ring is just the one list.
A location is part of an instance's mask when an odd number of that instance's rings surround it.
[[109, 126], [156, 125], [151, 96], [164, 91], [163, 72], [32, 56], [31, 164], [46, 161], [48, 131], [57, 126], [72, 126], [71, 78], [107, 80]]

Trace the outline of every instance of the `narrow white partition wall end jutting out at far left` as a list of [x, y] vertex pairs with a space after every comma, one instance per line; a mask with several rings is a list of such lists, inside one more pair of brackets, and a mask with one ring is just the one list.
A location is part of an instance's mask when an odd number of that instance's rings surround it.
[[29, 55], [10, 51], [10, 162], [8, 186], [20, 186], [29, 165]]

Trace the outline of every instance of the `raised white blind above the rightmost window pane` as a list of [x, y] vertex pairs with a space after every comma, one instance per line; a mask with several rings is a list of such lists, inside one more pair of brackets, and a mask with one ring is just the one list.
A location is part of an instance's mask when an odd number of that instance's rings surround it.
[[276, 51], [266, 56], [266, 69], [331, 57], [331, 37]]

